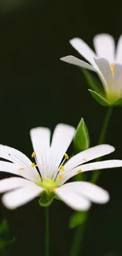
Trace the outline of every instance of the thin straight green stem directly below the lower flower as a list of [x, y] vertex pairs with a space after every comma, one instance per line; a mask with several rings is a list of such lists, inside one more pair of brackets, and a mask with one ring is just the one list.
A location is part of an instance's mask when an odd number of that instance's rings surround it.
[[49, 207], [46, 207], [46, 256], [49, 256]]

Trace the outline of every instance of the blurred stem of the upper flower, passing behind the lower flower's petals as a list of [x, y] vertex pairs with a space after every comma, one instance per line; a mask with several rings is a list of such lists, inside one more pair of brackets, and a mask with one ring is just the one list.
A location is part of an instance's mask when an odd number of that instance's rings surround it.
[[[109, 107], [106, 115], [105, 115], [105, 120], [103, 122], [102, 125], [102, 130], [98, 139], [98, 144], [102, 144], [104, 143], [105, 140], [105, 134], [106, 134], [106, 130], [108, 128], [108, 124], [109, 124], [109, 120], [112, 114], [112, 107]], [[100, 160], [100, 158], [99, 158]], [[98, 180], [98, 176], [100, 175], [100, 172], [95, 171], [92, 178], [91, 178], [91, 182], [92, 183], [96, 183]], [[72, 243], [72, 248], [71, 248], [71, 252], [70, 252], [70, 256], [78, 256], [79, 255], [79, 251], [81, 250], [81, 242], [83, 239], [83, 233], [84, 233], [84, 229], [85, 229], [85, 224], [87, 223], [87, 218], [88, 218], [88, 212], [86, 213], [87, 217], [85, 218], [85, 221], [83, 222], [83, 224], [79, 225], [78, 228], [76, 228], [76, 233], [75, 233], [75, 237]]]

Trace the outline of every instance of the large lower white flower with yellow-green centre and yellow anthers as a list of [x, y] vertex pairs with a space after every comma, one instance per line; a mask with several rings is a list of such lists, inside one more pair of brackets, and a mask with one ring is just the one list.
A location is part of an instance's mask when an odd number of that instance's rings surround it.
[[[114, 147], [109, 145], [91, 147], [68, 160], [65, 152], [74, 133], [75, 128], [72, 126], [57, 124], [50, 146], [50, 129], [31, 129], [31, 142], [35, 150], [31, 157], [35, 157], [36, 163], [32, 163], [19, 150], [0, 145], [0, 157], [11, 161], [0, 161], [0, 171], [22, 176], [0, 180], [0, 193], [6, 192], [2, 196], [2, 202], [7, 208], [22, 206], [41, 195], [43, 191], [48, 195], [53, 192], [74, 210], [87, 210], [91, 202], [109, 201], [107, 191], [89, 182], [65, 184], [80, 172], [122, 166], [121, 160], [98, 161], [84, 165], [84, 162], [113, 152]], [[65, 163], [66, 160], [68, 161]]]

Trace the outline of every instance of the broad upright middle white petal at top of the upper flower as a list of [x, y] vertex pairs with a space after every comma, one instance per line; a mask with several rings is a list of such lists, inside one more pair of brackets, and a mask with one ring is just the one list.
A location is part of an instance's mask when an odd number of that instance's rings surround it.
[[94, 36], [94, 48], [98, 58], [105, 58], [109, 64], [114, 62], [115, 42], [112, 35], [99, 34]]

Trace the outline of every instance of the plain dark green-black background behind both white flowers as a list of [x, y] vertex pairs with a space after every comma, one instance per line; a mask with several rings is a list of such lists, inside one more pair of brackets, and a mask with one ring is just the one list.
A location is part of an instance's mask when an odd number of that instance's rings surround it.
[[[90, 46], [100, 32], [117, 40], [122, 33], [122, 4], [43, 0], [9, 7], [1, 2], [0, 143], [31, 157], [30, 128], [47, 126], [53, 130], [59, 122], [76, 126], [83, 117], [94, 146], [106, 109], [91, 98], [82, 72], [59, 58], [67, 54], [79, 57], [68, 43], [75, 36]], [[108, 158], [122, 158], [121, 122], [122, 109], [116, 108], [105, 141], [116, 147], [116, 152]], [[79, 255], [106, 256], [116, 251], [113, 256], [120, 256], [122, 169], [104, 170], [98, 184], [109, 191], [111, 200], [105, 206], [92, 207]], [[75, 233], [68, 229], [72, 212], [62, 202], [50, 207], [50, 256], [69, 255]], [[11, 236], [17, 237], [17, 243], [8, 247], [8, 255], [44, 255], [44, 209], [37, 199], [12, 212], [1, 206], [2, 217], [9, 221]]]

